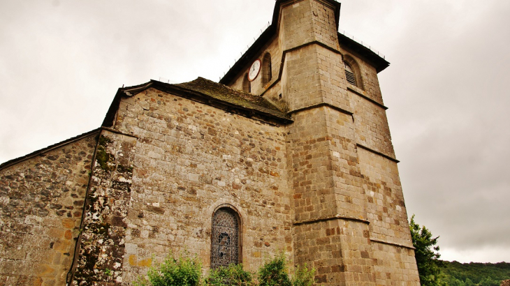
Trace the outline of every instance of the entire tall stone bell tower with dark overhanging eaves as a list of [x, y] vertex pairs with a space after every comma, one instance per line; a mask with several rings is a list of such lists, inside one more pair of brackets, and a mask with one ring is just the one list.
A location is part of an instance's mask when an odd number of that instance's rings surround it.
[[[414, 248], [377, 73], [388, 61], [338, 33], [340, 3], [277, 0], [272, 25], [220, 83], [281, 107], [296, 266], [323, 285], [419, 285]], [[280, 60], [281, 59], [281, 60]], [[267, 78], [266, 78], [267, 80]]]

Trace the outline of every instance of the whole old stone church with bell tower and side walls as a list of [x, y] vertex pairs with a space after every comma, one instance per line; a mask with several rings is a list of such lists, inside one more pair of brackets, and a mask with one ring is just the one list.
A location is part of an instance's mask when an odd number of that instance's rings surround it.
[[321, 285], [419, 285], [389, 63], [339, 17], [277, 0], [219, 82], [122, 87], [96, 130], [1, 164], [0, 284], [131, 285], [185, 250], [205, 271], [284, 251]]

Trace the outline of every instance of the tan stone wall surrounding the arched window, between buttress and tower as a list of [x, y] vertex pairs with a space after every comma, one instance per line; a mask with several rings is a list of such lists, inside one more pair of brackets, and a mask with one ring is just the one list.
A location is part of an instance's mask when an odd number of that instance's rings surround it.
[[242, 262], [293, 250], [285, 128], [149, 89], [120, 105], [115, 128], [138, 137], [126, 223], [124, 281], [152, 255], [186, 249], [210, 265], [212, 213], [242, 220]]

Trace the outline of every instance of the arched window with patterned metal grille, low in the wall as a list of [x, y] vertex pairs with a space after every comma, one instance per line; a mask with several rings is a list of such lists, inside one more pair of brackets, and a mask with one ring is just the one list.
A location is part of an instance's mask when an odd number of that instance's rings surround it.
[[222, 207], [212, 215], [211, 269], [240, 263], [240, 218]]

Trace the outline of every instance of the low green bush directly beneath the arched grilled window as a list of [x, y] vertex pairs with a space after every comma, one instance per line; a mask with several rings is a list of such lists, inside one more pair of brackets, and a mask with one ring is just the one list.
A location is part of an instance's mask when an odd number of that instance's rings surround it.
[[206, 279], [211, 286], [249, 286], [253, 285], [252, 273], [242, 269], [242, 264], [231, 264], [227, 267], [211, 270]]

